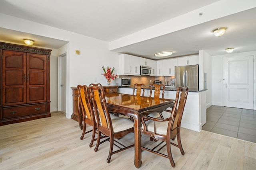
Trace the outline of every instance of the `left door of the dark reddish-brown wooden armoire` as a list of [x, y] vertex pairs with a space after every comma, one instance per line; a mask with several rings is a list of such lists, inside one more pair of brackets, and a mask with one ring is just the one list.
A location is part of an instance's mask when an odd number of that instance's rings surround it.
[[26, 53], [3, 50], [2, 106], [26, 103]]

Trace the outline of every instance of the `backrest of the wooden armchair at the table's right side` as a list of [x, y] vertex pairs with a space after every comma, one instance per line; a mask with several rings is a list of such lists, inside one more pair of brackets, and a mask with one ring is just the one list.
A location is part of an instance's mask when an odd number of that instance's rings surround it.
[[[181, 119], [188, 96], [188, 87], [179, 87], [176, 92], [174, 106], [172, 107], [172, 121], [169, 122], [168, 131], [171, 132], [171, 139], [177, 135], [180, 129]], [[177, 108], [178, 107], [178, 108]]]

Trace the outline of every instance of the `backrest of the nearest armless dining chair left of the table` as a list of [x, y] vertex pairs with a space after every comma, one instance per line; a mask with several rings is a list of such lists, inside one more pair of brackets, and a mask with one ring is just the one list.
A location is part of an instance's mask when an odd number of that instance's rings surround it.
[[105, 92], [100, 86], [91, 86], [90, 93], [98, 125], [100, 126], [103, 134], [109, 134], [109, 131], [111, 132], [113, 129], [108, 106], [106, 103]]

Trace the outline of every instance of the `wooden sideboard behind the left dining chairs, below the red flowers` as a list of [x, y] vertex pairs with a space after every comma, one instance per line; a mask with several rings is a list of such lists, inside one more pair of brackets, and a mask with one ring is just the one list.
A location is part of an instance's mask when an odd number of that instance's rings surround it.
[[[105, 93], [117, 93], [118, 92], [118, 86], [102, 86]], [[72, 97], [73, 97], [73, 113], [71, 115], [71, 118], [75, 121], [78, 121], [80, 129], [83, 129], [82, 125], [82, 117], [79, 119], [78, 115], [82, 112], [81, 108], [79, 107], [79, 98], [78, 98], [78, 92], [76, 87], [71, 87], [72, 89]]]

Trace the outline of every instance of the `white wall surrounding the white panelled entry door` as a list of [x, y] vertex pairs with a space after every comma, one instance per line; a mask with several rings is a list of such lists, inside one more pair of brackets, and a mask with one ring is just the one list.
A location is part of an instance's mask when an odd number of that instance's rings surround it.
[[[224, 70], [223, 70], [223, 60], [228, 57], [241, 57], [254, 55], [254, 60], [256, 58], [256, 51], [245, 52], [245, 53], [232, 53], [226, 55], [216, 55], [212, 56], [212, 105], [223, 106], [223, 90], [224, 90]], [[254, 80], [256, 79], [255, 72], [256, 64], [254, 62]], [[254, 83], [254, 101], [256, 101], [256, 90]], [[254, 102], [254, 109], [256, 108]]]

